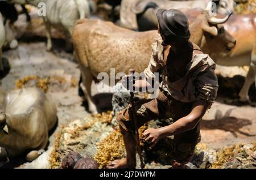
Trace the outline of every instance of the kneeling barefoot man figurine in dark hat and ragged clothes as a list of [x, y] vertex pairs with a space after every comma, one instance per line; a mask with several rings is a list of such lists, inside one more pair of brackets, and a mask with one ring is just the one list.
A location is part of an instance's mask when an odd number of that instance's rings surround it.
[[[150, 64], [144, 70], [147, 79], [155, 78], [159, 72], [162, 82], [159, 96], [155, 99], [135, 102], [138, 126], [156, 118], [173, 118], [174, 123], [158, 129], [148, 129], [143, 140], [151, 147], [159, 139], [174, 135], [175, 149], [173, 168], [183, 168], [191, 159], [197, 143], [200, 142], [200, 120], [210, 108], [217, 95], [218, 83], [214, 73], [215, 63], [209, 55], [189, 41], [188, 20], [179, 10], [157, 12], [159, 33], [152, 45]], [[133, 81], [132, 76], [123, 78]], [[150, 87], [146, 79], [137, 80], [135, 88]], [[131, 106], [117, 114], [127, 157], [109, 164], [108, 168], [135, 168], [136, 139]]]

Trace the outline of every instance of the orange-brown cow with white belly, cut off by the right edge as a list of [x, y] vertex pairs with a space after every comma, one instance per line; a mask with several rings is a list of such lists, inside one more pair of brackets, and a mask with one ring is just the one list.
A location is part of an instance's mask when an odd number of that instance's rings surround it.
[[[193, 22], [203, 10], [182, 11], [189, 21]], [[223, 25], [236, 39], [237, 44], [230, 53], [216, 54], [213, 59], [218, 65], [222, 66], [250, 66], [245, 83], [238, 93], [239, 100], [243, 104], [250, 104], [248, 92], [251, 84], [256, 79], [256, 14], [232, 15], [228, 22]]]

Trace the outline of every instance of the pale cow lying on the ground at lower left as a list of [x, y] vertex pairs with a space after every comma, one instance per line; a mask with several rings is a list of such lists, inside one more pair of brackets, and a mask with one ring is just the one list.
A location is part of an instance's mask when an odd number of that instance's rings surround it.
[[9, 92], [0, 108], [0, 159], [27, 153], [37, 158], [48, 144], [48, 132], [57, 122], [55, 103], [38, 88]]

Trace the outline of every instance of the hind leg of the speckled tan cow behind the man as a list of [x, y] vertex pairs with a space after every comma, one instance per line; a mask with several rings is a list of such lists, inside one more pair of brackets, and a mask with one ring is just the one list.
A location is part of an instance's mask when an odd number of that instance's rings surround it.
[[85, 99], [88, 102], [89, 106], [89, 112], [93, 114], [97, 114], [97, 107], [93, 102], [92, 98], [92, 92], [91, 92], [91, 86], [92, 86], [92, 80], [93, 80], [93, 75], [92, 72], [90, 72], [89, 68], [83, 68], [82, 72], [82, 84], [84, 84], [85, 87]]

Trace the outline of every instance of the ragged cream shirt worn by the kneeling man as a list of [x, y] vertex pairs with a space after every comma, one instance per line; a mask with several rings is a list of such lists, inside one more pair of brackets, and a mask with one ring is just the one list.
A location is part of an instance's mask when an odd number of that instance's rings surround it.
[[[195, 48], [194, 48], [195, 49]], [[146, 78], [154, 79], [154, 72], [162, 68], [162, 82], [159, 87], [181, 102], [205, 100], [213, 102], [217, 96], [218, 80], [214, 72], [216, 64], [208, 54], [193, 53], [192, 61], [187, 66], [187, 74], [176, 82], [168, 80], [167, 66], [163, 61], [162, 38], [152, 44], [152, 55], [148, 67], [144, 70]], [[196, 48], [195, 50], [200, 50]]]

